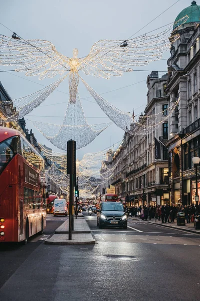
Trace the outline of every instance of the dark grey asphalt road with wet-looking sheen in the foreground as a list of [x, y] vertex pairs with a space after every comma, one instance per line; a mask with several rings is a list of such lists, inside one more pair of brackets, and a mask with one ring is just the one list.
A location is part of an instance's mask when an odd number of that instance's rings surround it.
[[[95, 245], [45, 245], [42, 236], [0, 251], [0, 300], [199, 300], [199, 235], [130, 219], [127, 230], [98, 229], [84, 214]], [[49, 219], [44, 235], [62, 222]]]

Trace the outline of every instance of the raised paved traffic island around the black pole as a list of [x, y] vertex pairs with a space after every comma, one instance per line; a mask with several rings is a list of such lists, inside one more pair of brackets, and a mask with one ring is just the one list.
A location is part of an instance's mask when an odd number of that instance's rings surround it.
[[44, 241], [44, 243], [61, 245], [95, 244], [95, 239], [91, 235], [91, 230], [82, 214], [79, 214], [77, 219], [73, 219], [71, 240], [68, 239], [68, 224], [69, 220], [67, 219], [55, 230], [54, 234], [50, 238], [47, 238]]

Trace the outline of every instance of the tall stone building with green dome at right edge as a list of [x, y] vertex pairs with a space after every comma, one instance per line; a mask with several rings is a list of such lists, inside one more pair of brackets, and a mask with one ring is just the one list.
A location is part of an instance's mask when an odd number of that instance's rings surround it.
[[[169, 140], [166, 143], [170, 156], [171, 202], [176, 205], [194, 203], [192, 158], [200, 156], [200, 6], [192, 1], [191, 6], [184, 9], [175, 21], [185, 15], [189, 19], [179, 28], [180, 39], [171, 46], [171, 56], [167, 61], [168, 102], [171, 105], [180, 98], [168, 120]], [[199, 195], [200, 183], [198, 188]]]

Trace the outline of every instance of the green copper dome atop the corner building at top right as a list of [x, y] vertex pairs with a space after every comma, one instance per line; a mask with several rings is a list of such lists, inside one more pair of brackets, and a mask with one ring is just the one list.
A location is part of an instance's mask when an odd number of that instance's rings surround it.
[[[183, 18], [185, 15], [187, 15], [189, 18], [184, 23], [192, 23], [192, 22], [200, 22], [200, 6], [196, 5], [195, 1], [192, 1], [191, 5], [182, 10], [182, 12], [176, 17], [175, 22]], [[173, 29], [175, 29], [178, 26], [178, 23], [174, 24]]]

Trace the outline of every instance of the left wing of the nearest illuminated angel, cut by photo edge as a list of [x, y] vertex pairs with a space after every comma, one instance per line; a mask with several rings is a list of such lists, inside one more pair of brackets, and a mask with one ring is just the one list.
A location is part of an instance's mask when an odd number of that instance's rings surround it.
[[45, 40], [17, 40], [0, 34], [0, 65], [18, 66], [27, 76], [52, 78], [68, 71], [68, 58]]

